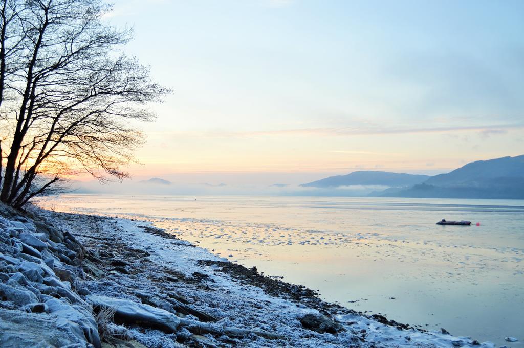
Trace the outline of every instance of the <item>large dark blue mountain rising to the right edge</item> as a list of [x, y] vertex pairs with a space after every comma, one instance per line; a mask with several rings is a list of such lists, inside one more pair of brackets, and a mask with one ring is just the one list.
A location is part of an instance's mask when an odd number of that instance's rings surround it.
[[468, 163], [383, 197], [524, 199], [524, 155]]

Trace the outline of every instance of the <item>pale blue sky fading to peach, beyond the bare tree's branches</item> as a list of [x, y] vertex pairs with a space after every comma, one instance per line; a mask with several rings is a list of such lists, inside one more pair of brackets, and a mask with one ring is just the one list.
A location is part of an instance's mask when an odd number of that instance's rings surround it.
[[137, 177], [293, 183], [524, 153], [522, 1], [117, 0], [171, 87]]

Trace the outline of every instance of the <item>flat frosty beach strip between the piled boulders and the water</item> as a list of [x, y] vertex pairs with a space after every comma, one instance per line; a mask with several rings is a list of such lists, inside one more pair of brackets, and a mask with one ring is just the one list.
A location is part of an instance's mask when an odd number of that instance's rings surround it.
[[180, 329], [166, 333], [158, 325], [143, 327], [117, 313], [116, 323], [126, 325], [126, 334], [120, 336], [146, 346], [494, 346], [330, 304], [308, 288], [231, 263], [149, 222], [40, 214], [85, 249], [85, 276], [73, 279], [71, 288], [80, 290], [85, 302], [93, 305], [103, 296], [150, 306], [185, 321]]

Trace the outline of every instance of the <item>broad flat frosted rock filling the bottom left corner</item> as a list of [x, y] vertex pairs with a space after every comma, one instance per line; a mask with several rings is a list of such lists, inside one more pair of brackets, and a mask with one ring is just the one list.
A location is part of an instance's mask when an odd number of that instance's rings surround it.
[[0, 309], [2, 347], [85, 347], [67, 328], [59, 328], [54, 318], [41, 314]]

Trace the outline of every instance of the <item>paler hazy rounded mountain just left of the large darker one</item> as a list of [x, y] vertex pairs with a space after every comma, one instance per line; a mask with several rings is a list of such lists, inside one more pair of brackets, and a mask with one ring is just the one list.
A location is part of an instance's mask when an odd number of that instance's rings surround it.
[[358, 171], [347, 175], [336, 175], [324, 179], [302, 184], [303, 187], [339, 187], [339, 186], [370, 186], [380, 185], [402, 187], [420, 184], [430, 178], [429, 175], [401, 174], [377, 171]]

